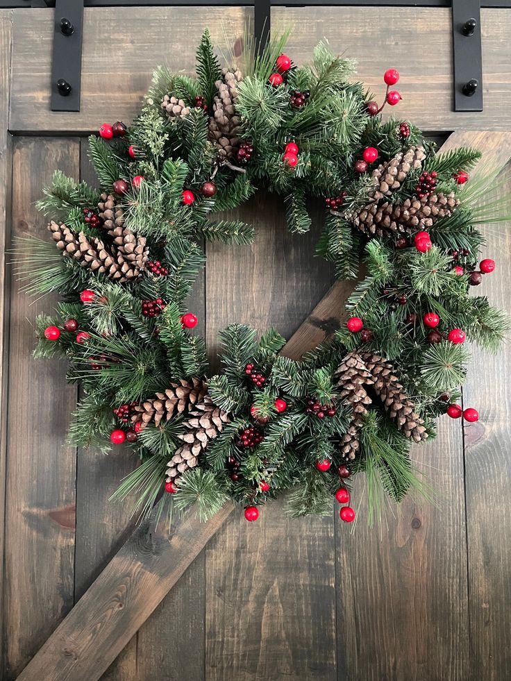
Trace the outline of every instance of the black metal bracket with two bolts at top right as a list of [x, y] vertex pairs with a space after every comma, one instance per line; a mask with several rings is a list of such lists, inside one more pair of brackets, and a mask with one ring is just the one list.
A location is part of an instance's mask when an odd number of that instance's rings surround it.
[[453, 0], [454, 110], [483, 110], [480, 0]]

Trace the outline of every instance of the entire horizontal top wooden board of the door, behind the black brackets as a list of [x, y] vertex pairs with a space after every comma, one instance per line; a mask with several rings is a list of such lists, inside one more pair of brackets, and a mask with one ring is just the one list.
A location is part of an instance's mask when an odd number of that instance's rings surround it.
[[[358, 60], [358, 78], [378, 99], [383, 72], [399, 67], [403, 102], [392, 112], [428, 131], [506, 130], [511, 122], [511, 8], [481, 10], [483, 112], [452, 111], [451, 10], [403, 7], [276, 7], [272, 26], [292, 27], [294, 60], [310, 59], [327, 37], [335, 51]], [[194, 46], [209, 26], [216, 44], [232, 50], [251, 8], [86, 8], [81, 111], [49, 111], [53, 10], [15, 10], [10, 129], [92, 131], [104, 121], [130, 121], [158, 63], [190, 72]], [[142, 30], [143, 27], [143, 30]], [[112, 36], [115, 35], [115, 39]], [[112, 83], [115, 86], [112, 87]]]

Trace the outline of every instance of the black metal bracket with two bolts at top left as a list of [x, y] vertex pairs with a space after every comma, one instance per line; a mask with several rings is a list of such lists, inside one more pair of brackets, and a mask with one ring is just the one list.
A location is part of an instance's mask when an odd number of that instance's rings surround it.
[[83, 0], [56, 0], [51, 110], [79, 111], [82, 72]]

